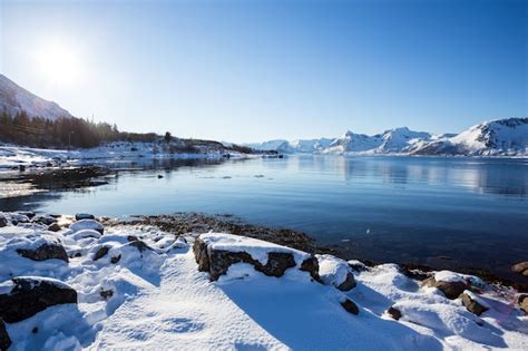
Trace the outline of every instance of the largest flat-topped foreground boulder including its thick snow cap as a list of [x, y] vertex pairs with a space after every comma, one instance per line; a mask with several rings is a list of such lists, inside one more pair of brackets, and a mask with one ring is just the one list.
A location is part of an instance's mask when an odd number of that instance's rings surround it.
[[296, 267], [320, 280], [319, 264], [314, 256], [290, 247], [261, 240], [224, 233], [199, 235], [193, 246], [198, 270], [218, 280], [236, 263], [246, 263], [270, 276], [282, 276]]

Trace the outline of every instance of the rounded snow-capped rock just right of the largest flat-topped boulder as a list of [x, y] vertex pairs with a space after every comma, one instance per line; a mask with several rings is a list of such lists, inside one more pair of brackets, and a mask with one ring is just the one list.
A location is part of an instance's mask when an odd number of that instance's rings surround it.
[[332, 255], [315, 255], [319, 263], [319, 275], [326, 285], [333, 285], [341, 291], [355, 286], [354, 274], [346, 261]]

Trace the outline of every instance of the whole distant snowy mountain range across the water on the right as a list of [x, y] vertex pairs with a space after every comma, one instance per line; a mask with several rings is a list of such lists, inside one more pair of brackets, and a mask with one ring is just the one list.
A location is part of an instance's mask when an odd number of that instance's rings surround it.
[[338, 155], [528, 156], [528, 117], [485, 121], [460, 134], [434, 135], [402, 127], [371, 136], [349, 130], [334, 139], [277, 139], [246, 146], [280, 153]]

